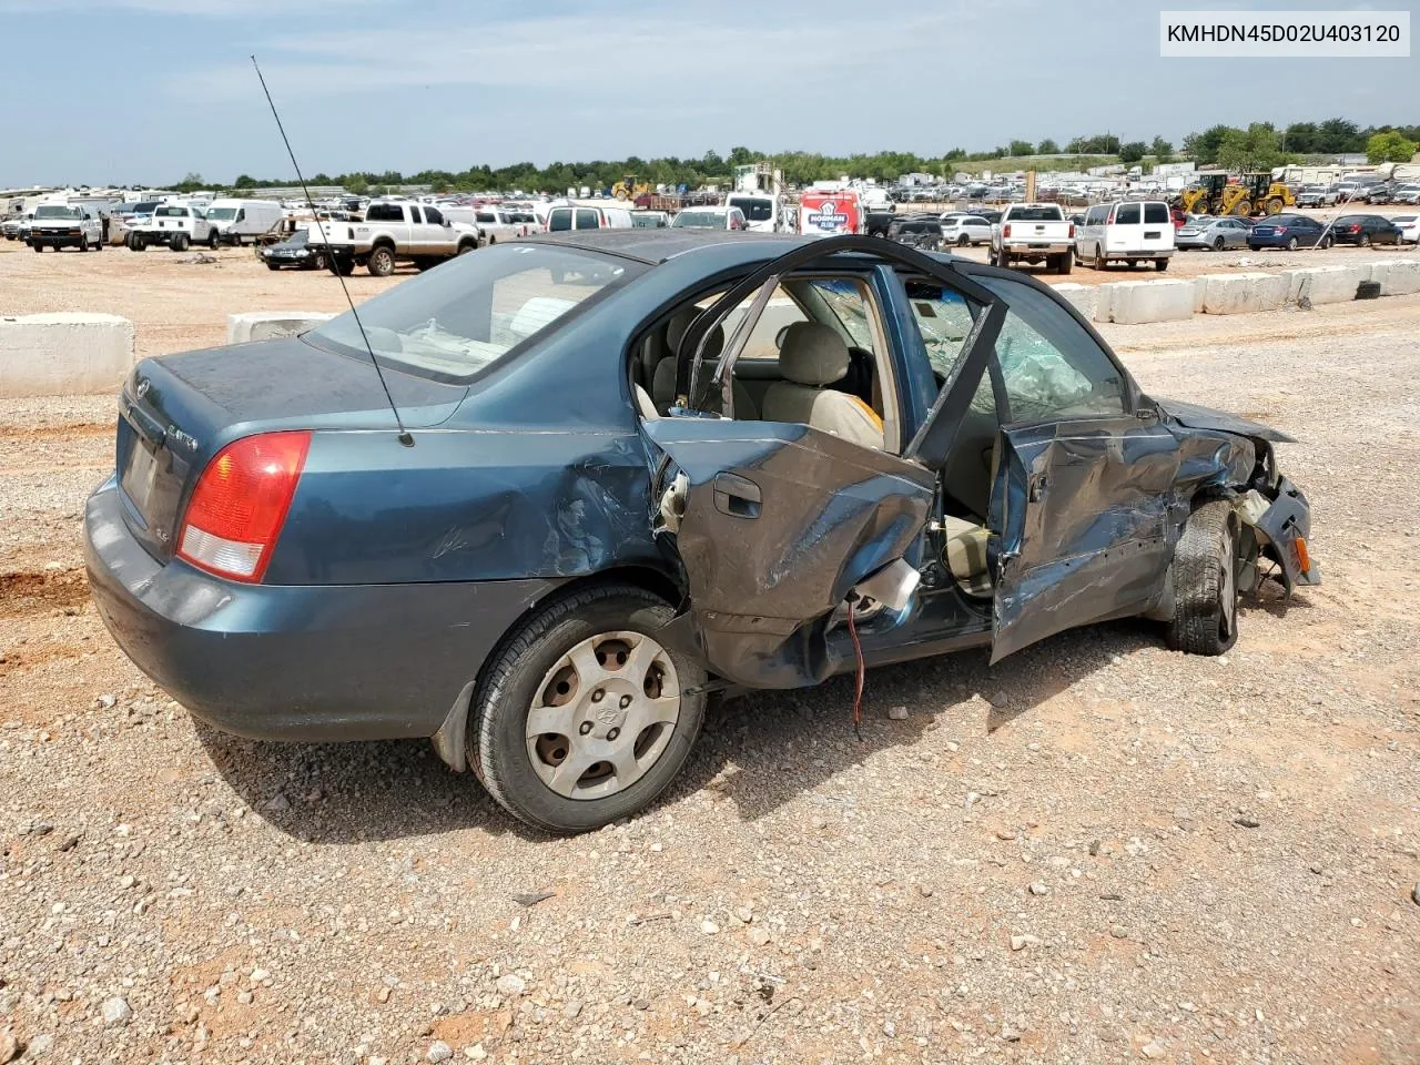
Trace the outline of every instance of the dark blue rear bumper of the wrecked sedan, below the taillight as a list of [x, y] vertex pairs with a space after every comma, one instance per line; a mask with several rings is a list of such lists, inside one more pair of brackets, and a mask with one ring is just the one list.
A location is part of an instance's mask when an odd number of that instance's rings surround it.
[[158, 562], [109, 477], [84, 514], [94, 602], [124, 653], [195, 717], [257, 740], [433, 736], [559, 581], [243, 585]]

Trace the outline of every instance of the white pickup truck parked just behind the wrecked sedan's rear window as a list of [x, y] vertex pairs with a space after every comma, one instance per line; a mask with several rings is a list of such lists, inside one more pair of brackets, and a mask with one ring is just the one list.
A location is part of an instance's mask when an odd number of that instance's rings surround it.
[[479, 247], [479, 230], [450, 222], [427, 203], [376, 200], [364, 222], [324, 222], [311, 226], [308, 244], [321, 243], [342, 274], [362, 266], [375, 277], [389, 277], [395, 263], [413, 263], [420, 270]]

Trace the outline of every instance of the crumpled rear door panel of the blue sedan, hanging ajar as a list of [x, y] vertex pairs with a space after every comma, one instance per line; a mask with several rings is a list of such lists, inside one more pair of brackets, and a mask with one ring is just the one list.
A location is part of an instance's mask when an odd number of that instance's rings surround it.
[[697, 653], [740, 684], [822, 680], [829, 616], [919, 548], [933, 474], [802, 425], [667, 417], [643, 427], [674, 464], [655, 486], [657, 531], [684, 568]]

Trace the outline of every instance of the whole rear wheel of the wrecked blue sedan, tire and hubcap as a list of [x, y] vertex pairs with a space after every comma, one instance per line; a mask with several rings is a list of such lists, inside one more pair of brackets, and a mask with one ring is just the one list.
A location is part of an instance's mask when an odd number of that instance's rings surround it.
[[652, 802], [704, 716], [704, 672], [653, 633], [674, 611], [630, 585], [588, 588], [507, 640], [469, 709], [469, 763], [497, 802], [585, 832]]

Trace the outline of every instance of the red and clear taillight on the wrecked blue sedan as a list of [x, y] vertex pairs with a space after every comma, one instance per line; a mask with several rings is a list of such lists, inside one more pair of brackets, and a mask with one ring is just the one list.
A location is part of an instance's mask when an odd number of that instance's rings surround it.
[[178, 555], [233, 581], [260, 582], [310, 446], [302, 430], [247, 436], [217, 452], [192, 491]]

